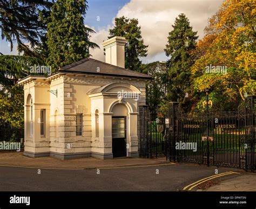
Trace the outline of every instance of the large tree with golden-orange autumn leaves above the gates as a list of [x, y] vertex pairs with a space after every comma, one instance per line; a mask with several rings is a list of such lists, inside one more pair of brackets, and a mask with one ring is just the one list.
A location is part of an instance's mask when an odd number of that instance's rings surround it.
[[[206, 36], [197, 45], [200, 58], [191, 68], [194, 94], [208, 91], [220, 106], [236, 107], [246, 95], [255, 94], [255, 13], [253, 0], [227, 0], [210, 18]], [[210, 65], [225, 66], [227, 71], [206, 73]]]

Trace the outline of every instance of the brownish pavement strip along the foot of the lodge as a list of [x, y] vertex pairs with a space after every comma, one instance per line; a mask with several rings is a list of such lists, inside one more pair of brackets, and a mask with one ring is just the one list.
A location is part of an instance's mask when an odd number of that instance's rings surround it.
[[54, 157], [27, 157], [23, 155], [23, 152], [0, 152], [0, 166], [21, 166], [28, 168], [50, 169], [95, 169], [159, 164], [169, 164], [169, 162], [166, 161], [165, 157], [156, 159], [114, 158], [105, 160], [86, 157], [62, 160]]

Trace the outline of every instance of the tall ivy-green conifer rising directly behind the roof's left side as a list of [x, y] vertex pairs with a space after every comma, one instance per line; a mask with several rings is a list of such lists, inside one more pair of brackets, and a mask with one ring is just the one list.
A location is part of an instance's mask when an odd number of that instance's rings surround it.
[[90, 57], [90, 48], [98, 47], [90, 41], [90, 33], [95, 31], [84, 26], [86, 9], [84, 0], [57, 0], [53, 4], [46, 34], [49, 51], [46, 63], [53, 72]]

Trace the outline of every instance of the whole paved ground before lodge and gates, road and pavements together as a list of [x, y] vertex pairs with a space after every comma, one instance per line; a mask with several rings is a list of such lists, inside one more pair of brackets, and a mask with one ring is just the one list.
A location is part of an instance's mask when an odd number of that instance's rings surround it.
[[0, 191], [256, 191], [256, 173], [164, 157], [61, 160], [0, 152]]

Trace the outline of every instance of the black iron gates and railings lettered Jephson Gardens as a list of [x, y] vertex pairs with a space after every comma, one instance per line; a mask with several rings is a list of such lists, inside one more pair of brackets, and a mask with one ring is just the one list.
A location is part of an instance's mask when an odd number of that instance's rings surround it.
[[[255, 170], [255, 96], [248, 96], [237, 112], [218, 113], [205, 101], [205, 112], [184, 113], [169, 103], [166, 117], [140, 107], [140, 157], [166, 156], [170, 161]], [[160, 122], [159, 122], [160, 121]], [[160, 127], [160, 129], [159, 129]], [[164, 129], [164, 131], [159, 131]]]

